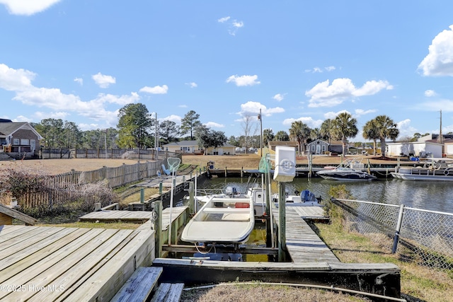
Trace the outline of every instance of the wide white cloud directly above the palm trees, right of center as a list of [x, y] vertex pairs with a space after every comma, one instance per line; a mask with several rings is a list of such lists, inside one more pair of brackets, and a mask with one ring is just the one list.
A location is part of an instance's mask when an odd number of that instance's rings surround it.
[[310, 97], [309, 107], [333, 107], [340, 105], [348, 98], [374, 95], [382, 89], [393, 89], [387, 81], [367, 81], [362, 87], [356, 88], [350, 79], [335, 79], [317, 83], [305, 95]]

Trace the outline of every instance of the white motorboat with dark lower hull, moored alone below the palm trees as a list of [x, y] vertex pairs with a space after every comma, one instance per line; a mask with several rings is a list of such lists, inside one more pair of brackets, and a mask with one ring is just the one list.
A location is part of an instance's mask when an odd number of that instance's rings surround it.
[[375, 180], [376, 176], [362, 170], [365, 169], [365, 164], [355, 158], [346, 161], [346, 163], [338, 165], [336, 168], [328, 168], [320, 170], [316, 174], [326, 180]]

